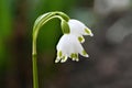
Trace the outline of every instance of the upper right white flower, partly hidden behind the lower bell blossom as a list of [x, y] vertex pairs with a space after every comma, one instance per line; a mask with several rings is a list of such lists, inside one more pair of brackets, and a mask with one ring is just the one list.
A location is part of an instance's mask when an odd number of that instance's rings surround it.
[[85, 38], [82, 35], [94, 36], [90, 29], [88, 29], [82, 22], [80, 22], [78, 20], [70, 19], [68, 21], [68, 25], [70, 29], [70, 34], [76, 35], [80, 43], [85, 42]]

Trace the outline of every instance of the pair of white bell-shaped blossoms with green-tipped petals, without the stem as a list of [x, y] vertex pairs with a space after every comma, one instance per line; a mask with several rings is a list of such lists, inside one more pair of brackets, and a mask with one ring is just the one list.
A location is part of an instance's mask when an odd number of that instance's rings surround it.
[[88, 57], [88, 54], [81, 46], [81, 43], [85, 42], [82, 35], [94, 36], [92, 32], [82, 22], [74, 19], [68, 20], [65, 25], [68, 25], [69, 33], [64, 33], [56, 46], [57, 57], [55, 63], [64, 63], [68, 57], [78, 62], [78, 54]]

